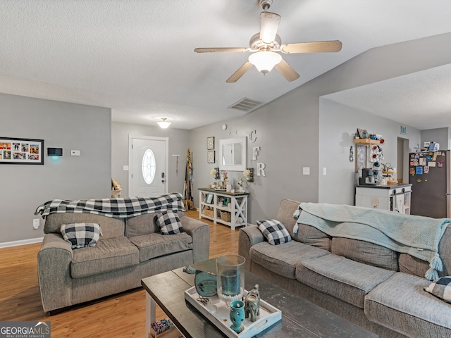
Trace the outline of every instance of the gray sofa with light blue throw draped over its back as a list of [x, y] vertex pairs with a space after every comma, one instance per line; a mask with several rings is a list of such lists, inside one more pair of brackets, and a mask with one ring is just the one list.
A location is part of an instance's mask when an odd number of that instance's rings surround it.
[[[256, 225], [240, 229], [238, 253], [248, 270], [381, 337], [451, 337], [451, 304], [424, 291], [428, 262], [309, 225], [295, 233], [298, 206], [285, 199], [277, 215], [291, 242], [270, 245]], [[451, 275], [450, 227], [439, 253], [439, 276]]]

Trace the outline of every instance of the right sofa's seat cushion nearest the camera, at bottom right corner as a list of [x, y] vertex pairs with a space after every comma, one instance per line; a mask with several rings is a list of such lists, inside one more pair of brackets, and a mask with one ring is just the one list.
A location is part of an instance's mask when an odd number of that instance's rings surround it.
[[450, 337], [451, 306], [424, 291], [429, 284], [424, 277], [395, 273], [366, 295], [366, 317], [408, 337]]

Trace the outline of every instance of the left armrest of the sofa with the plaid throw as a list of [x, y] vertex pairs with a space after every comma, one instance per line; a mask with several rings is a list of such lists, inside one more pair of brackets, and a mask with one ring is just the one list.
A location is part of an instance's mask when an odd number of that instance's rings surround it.
[[72, 305], [72, 249], [61, 234], [46, 234], [37, 253], [37, 275], [44, 312]]

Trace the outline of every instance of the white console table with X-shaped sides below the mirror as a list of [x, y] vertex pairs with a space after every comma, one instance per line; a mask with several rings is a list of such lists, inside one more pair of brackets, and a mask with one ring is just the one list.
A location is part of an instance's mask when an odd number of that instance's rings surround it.
[[[247, 196], [248, 192], [223, 192], [199, 188], [199, 218], [207, 218], [214, 224], [228, 225], [232, 230], [235, 230], [235, 227], [246, 226]], [[221, 217], [221, 212], [225, 215], [230, 213], [230, 220]]]

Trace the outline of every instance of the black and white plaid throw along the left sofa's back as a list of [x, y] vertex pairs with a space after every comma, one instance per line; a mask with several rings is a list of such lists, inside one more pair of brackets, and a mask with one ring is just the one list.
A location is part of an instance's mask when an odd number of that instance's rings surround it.
[[42, 218], [45, 218], [51, 213], [95, 213], [108, 217], [127, 218], [165, 210], [185, 211], [182, 194], [174, 192], [156, 197], [77, 201], [54, 199], [38, 206], [35, 215], [40, 213]]

